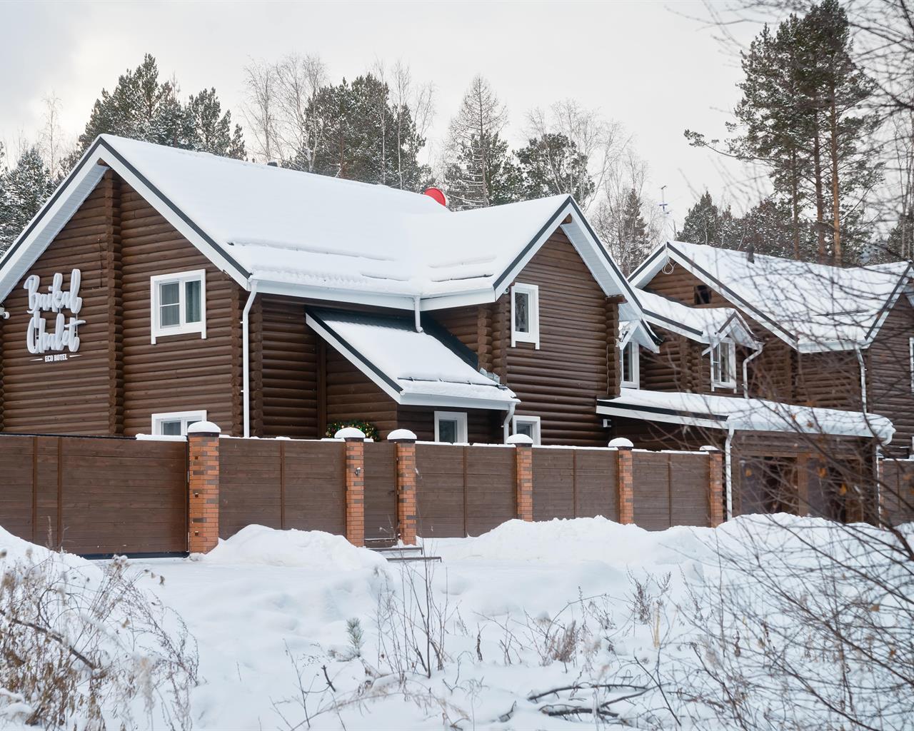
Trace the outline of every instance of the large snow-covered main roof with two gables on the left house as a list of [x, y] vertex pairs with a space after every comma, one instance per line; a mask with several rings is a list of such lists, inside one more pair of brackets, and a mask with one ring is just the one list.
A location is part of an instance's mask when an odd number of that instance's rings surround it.
[[[100, 164], [96, 164], [100, 163]], [[623, 319], [632, 287], [570, 196], [452, 212], [429, 196], [102, 134], [0, 260], [0, 300], [111, 167], [243, 287], [434, 310], [493, 302], [562, 228]]]

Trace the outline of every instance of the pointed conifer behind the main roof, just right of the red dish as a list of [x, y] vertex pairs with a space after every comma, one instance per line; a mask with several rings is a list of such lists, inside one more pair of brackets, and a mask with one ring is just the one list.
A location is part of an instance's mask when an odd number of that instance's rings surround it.
[[520, 175], [501, 138], [506, 123], [504, 105], [477, 76], [451, 122], [444, 186], [452, 207], [494, 206], [520, 197]]

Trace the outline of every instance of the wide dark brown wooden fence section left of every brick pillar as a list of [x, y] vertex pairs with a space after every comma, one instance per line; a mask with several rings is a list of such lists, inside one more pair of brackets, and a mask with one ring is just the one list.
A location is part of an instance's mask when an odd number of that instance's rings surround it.
[[76, 554], [187, 550], [184, 441], [0, 437], [0, 525]]

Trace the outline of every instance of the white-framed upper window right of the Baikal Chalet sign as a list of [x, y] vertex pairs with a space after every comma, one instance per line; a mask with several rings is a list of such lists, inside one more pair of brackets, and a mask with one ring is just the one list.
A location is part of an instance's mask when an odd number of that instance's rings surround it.
[[150, 278], [152, 338], [185, 333], [207, 337], [207, 272], [198, 269]]

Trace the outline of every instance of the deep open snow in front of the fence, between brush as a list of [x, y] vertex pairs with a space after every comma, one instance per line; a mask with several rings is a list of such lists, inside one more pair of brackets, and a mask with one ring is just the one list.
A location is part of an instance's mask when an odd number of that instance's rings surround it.
[[[748, 520], [661, 533], [601, 518], [513, 521], [427, 541], [443, 559], [428, 575], [338, 536], [249, 526], [209, 556], [130, 570], [155, 575], [143, 586], [196, 637], [196, 728], [592, 728], [586, 712], [545, 712], [623, 695], [633, 697], [607, 706], [618, 720], [675, 728], [669, 706], [679, 702], [638, 688], [658, 667], [670, 683], [670, 663], [694, 656], [689, 592], [728, 581], [714, 549], [739, 540]], [[767, 523], [761, 531], [771, 546], [792, 540]], [[2, 532], [0, 548], [4, 539], [21, 552]], [[536, 697], [582, 683], [614, 687]]]

